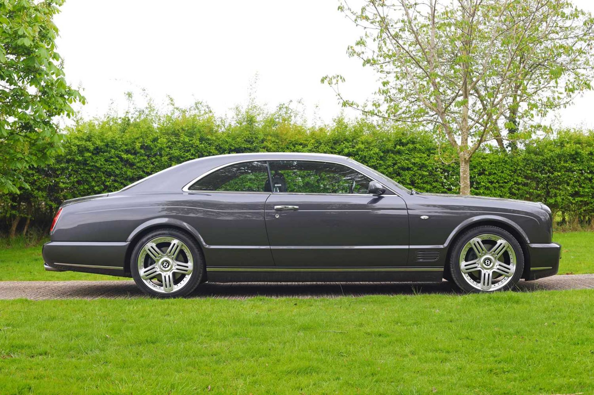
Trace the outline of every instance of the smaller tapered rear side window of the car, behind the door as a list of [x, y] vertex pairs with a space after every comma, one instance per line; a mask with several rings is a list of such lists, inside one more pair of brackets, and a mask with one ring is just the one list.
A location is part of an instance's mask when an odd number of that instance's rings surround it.
[[196, 181], [189, 190], [264, 192], [270, 190], [266, 162], [244, 162], [220, 168]]

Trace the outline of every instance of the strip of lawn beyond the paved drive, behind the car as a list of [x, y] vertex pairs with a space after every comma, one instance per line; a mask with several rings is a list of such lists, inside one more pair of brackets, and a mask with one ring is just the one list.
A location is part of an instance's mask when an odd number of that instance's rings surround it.
[[[594, 232], [557, 232], [553, 238], [563, 246], [560, 274], [594, 273]], [[0, 248], [0, 281], [113, 279], [118, 278], [88, 273], [46, 272], [41, 245], [25, 247], [17, 244]]]

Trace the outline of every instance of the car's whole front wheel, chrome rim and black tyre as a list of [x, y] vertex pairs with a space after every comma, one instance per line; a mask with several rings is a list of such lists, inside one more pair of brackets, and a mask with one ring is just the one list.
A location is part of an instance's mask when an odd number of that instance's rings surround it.
[[524, 270], [520, 243], [510, 232], [480, 226], [464, 232], [450, 254], [450, 275], [466, 292], [513, 288]]

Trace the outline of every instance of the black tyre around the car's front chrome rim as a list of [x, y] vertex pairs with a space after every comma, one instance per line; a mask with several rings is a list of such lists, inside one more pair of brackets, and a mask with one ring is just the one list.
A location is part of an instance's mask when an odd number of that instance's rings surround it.
[[[498, 236], [503, 237], [505, 240], [510, 243], [511, 247], [514, 249], [516, 253], [516, 271], [514, 275], [511, 277], [511, 281], [505, 284], [505, 286], [496, 289], [495, 291], [482, 291], [481, 289], [476, 289], [472, 285], [466, 282], [462, 270], [460, 269], [459, 259], [460, 253], [464, 248], [465, 244], [470, 241], [473, 237], [476, 237], [481, 234], [495, 234]], [[510, 232], [494, 226], [480, 226], [472, 228], [466, 232], [464, 232], [460, 237], [456, 239], [454, 246], [452, 247], [452, 253], [450, 255], [450, 276], [453, 279], [454, 283], [457, 285], [458, 288], [462, 289], [465, 292], [497, 292], [497, 291], [505, 291], [508, 289], [514, 288], [517, 282], [520, 281], [522, 278], [522, 272], [524, 271], [524, 253], [522, 251], [522, 246], [516, 240]]]

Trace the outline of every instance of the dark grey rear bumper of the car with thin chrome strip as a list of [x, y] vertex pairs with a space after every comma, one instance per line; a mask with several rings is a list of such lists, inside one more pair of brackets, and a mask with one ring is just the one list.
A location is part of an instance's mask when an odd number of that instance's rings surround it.
[[124, 275], [127, 242], [50, 241], [43, 244], [44, 267], [51, 271]]

